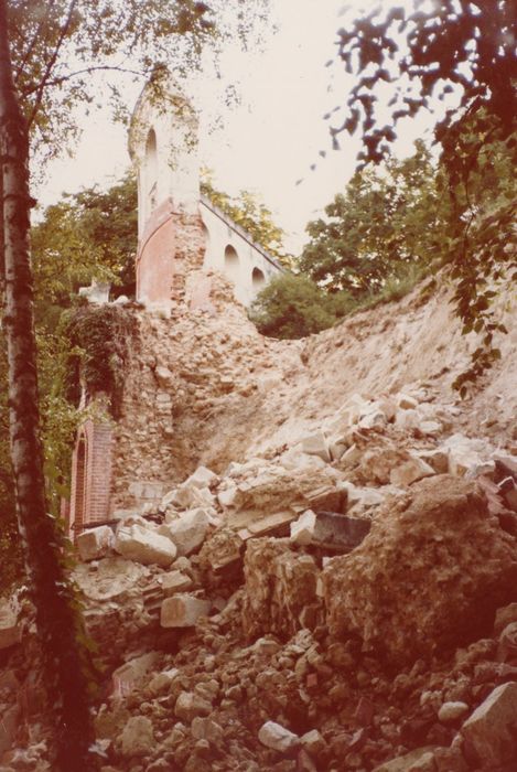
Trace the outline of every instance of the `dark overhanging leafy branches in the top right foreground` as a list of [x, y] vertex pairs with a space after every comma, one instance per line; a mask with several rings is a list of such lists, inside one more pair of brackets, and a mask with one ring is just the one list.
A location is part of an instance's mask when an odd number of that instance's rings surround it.
[[[450, 94], [459, 103], [437, 121], [434, 137], [442, 151], [442, 196], [449, 200], [440, 253], [455, 281], [463, 330], [482, 337], [471, 367], [455, 382], [465, 394], [499, 356], [493, 341], [504, 330], [491, 307], [497, 282], [505, 275], [511, 278], [516, 267], [515, 183], [507, 170], [503, 179], [513, 189], [507, 186], [506, 201], [497, 190], [502, 160], [515, 165], [517, 150], [515, 3], [379, 6], [347, 20], [338, 36], [338, 55], [355, 83], [343, 124], [331, 131], [335, 143], [343, 130], [359, 132], [359, 167], [389, 156], [400, 120], [422, 108], [433, 111], [437, 99]], [[387, 106], [386, 94], [391, 96]]]

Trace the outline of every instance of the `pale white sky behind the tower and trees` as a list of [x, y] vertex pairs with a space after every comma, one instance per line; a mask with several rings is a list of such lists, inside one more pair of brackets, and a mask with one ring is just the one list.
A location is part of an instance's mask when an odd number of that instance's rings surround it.
[[[388, 0], [386, 0], [388, 2]], [[223, 64], [229, 81], [238, 81], [241, 105], [226, 110], [224, 129], [208, 131], [220, 82], [205, 75], [195, 104], [201, 112], [201, 154], [215, 172], [216, 184], [227, 193], [240, 189], [259, 192], [298, 251], [306, 239], [304, 228], [335, 193], [343, 191], [358, 146], [342, 136], [342, 149], [332, 151], [323, 115], [343, 104], [347, 81], [335, 60], [335, 33], [344, 0], [273, 0], [279, 31], [261, 53], [229, 49]], [[371, 1], [348, 2], [360, 11]], [[406, 0], [405, 4], [409, 4]], [[348, 82], [349, 83], [349, 82]], [[138, 89], [128, 93], [134, 103]], [[401, 154], [411, 151], [423, 124], [406, 127]], [[84, 119], [83, 138], [73, 159], [55, 161], [40, 202], [54, 203], [63, 192], [116, 182], [129, 165], [126, 130], [99, 112]], [[326, 151], [326, 158], [319, 151]], [[310, 165], [317, 162], [316, 170]], [[297, 181], [303, 182], [297, 185]]]

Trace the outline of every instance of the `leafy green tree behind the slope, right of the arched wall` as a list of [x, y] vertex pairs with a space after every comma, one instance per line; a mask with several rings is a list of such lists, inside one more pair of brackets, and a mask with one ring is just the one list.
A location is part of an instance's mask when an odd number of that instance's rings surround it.
[[411, 158], [357, 172], [326, 217], [309, 223], [299, 268], [332, 291], [378, 293], [389, 277], [430, 265], [442, 210], [429, 151], [418, 142]]

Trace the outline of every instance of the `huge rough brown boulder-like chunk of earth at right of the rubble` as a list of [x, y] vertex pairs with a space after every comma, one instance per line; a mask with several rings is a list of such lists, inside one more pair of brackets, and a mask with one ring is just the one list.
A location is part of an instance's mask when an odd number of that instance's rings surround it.
[[363, 544], [322, 579], [331, 632], [402, 664], [491, 631], [517, 598], [517, 542], [474, 482], [437, 475], [379, 507]]

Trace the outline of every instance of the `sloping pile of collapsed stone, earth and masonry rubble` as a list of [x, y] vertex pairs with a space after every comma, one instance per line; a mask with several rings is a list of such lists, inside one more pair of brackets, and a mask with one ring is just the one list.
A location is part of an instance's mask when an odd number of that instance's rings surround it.
[[[74, 572], [103, 772], [516, 769], [517, 438], [471, 415], [492, 382], [463, 404], [431, 377], [437, 302], [306, 342], [261, 339], [223, 290], [215, 315], [142, 315], [120, 508]], [[424, 323], [403, 379], [392, 341]], [[0, 610], [0, 770], [43, 772], [19, 641]]]

